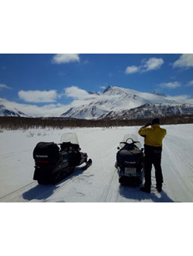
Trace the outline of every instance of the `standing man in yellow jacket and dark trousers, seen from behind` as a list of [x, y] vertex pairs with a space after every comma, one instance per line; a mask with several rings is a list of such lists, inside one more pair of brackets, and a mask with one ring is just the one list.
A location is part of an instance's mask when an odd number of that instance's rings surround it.
[[[151, 126], [151, 127], [148, 127]], [[160, 127], [160, 119], [154, 119], [151, 123], [147, 123], [141, 127], [139, 134], [144, 137], [144, 153], [145, 153], [145, 185], [141, 191], [151, 193], [151, 170], [152, 164], [155, 168], [155, 177], [157, 182], [157, 191], [162, 191], [164, 178], [161, 170], [161, 153], [162, 141], [167, 131]]]

